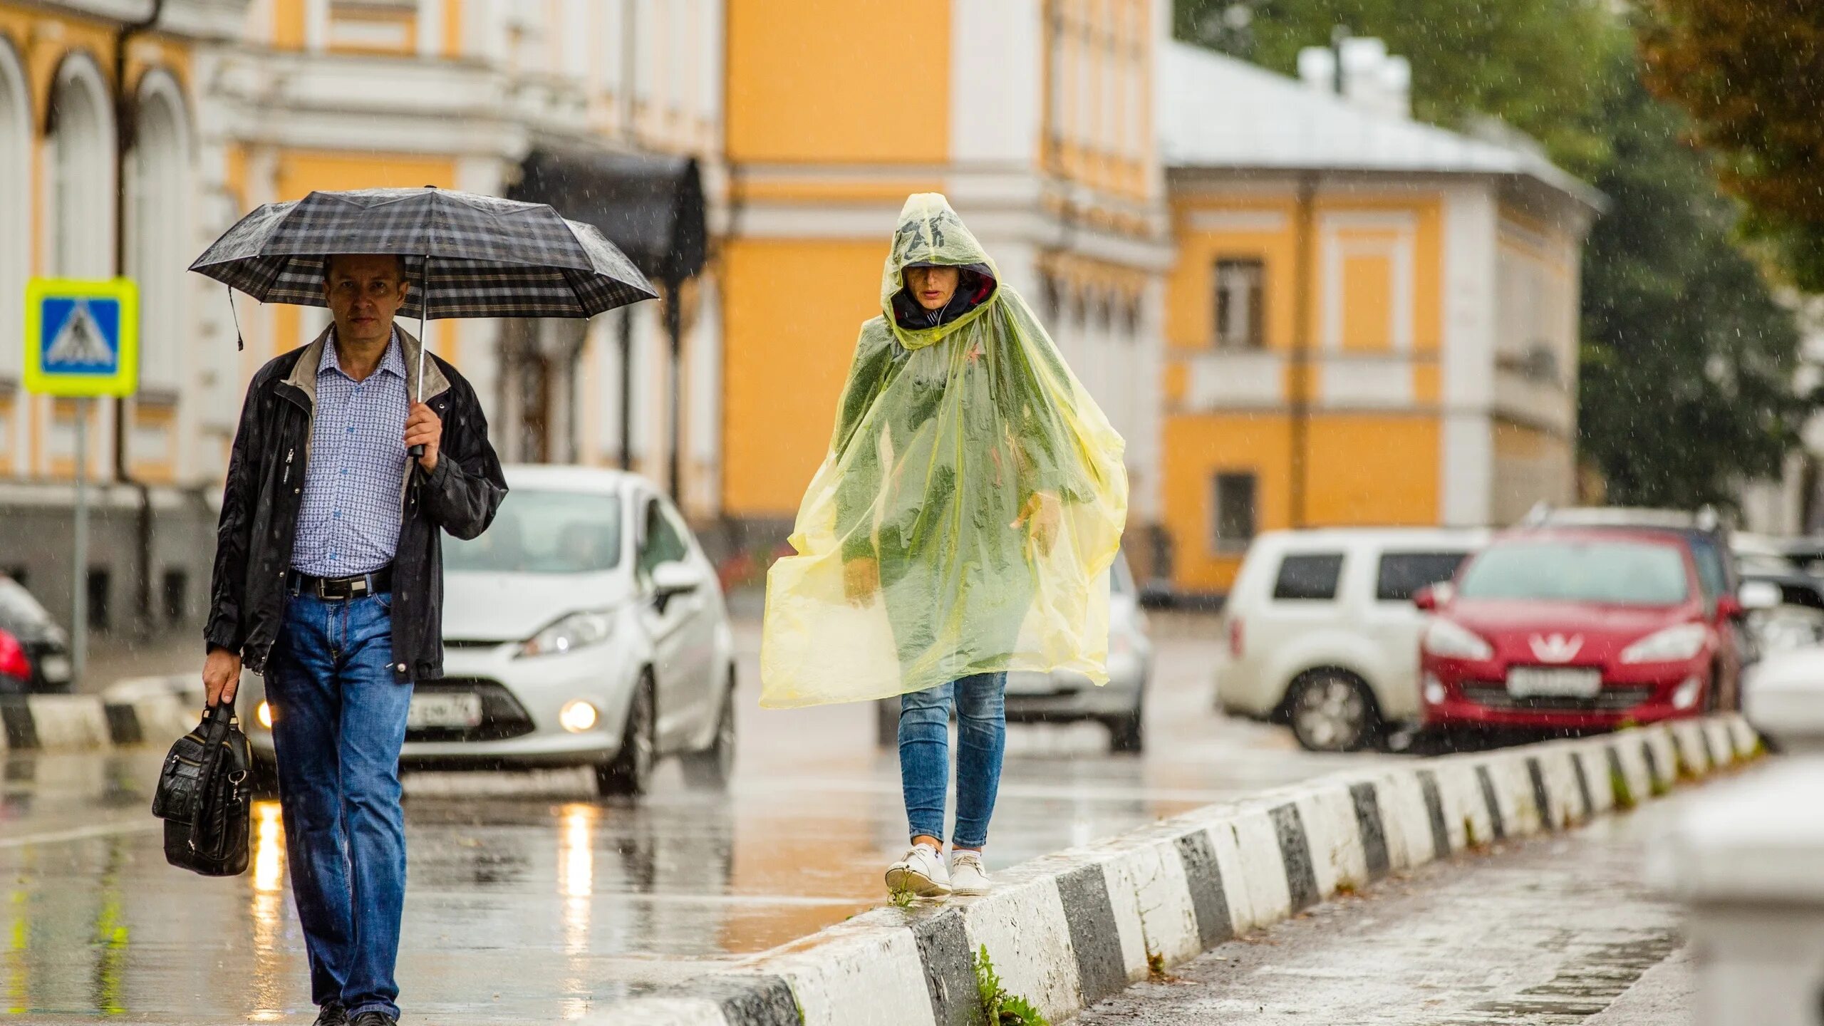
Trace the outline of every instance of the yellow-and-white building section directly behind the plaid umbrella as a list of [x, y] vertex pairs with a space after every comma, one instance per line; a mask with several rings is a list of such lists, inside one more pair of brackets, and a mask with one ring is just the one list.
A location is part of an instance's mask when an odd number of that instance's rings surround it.
[[[507, 195], [540, 153], [576, 175], [595, 157], [697, 157], [720, 210], [720, 26], [722, 0], [259, 0], [212, 93], [228, 208], [378, 186]], [[618, 236], [618, 225], [598, 226]], [[700, 518], [713, 513], [719, 476], [713, 272], [682, 301], [682, 493]], [[326, 323], [297, 307], [244, 303], [243, 314], [241, 380]], [[664, 480], [669, 343], [658, 303], [587, 325], [432, 321], [427, 336], [474, 382], [503, 460], [627, 455]], [[233, 400], [213, 409], [232, 416]], [[219, 424], [213, 442], [230, 431]]]

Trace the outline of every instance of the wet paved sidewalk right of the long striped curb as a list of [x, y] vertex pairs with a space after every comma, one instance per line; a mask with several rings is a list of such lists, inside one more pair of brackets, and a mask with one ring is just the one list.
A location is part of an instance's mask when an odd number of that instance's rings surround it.
[[1680, 1026], [1694, 975], [1684, 911], [1642, 882], [1642, 864], [1682, 803], [1388, 878], [1129, 988], [1080, 1022]]

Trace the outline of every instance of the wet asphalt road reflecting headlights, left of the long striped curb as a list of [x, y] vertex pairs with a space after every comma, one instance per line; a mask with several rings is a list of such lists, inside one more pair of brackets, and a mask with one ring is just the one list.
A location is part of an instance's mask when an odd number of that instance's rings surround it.
[[[1155, 621], [1147, 754], [1100, 727], [1014, 727], [990, 871], [1357, 759], [1209, 710], [1215, 621]], [[582, 1019], [885, 900], [905, 847], [872, 708], [761, 710], [751, 623], [728, 794], [675, 765], [638, 805], [586, 770], [412, 774], [399, 957], [407, 1022]], [[15, 756], [0, 794], [0, 1021], [310, 1022], [275, 803], [239, 878], [171, 869], [146, 811], [161, 750]]]

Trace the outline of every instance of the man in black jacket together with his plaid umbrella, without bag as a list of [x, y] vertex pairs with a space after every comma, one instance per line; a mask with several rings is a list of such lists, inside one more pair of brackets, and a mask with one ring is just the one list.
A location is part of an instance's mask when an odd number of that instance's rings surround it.
[[440, 537], [480, 535], [507, 493], [474, 389], [394, 318], [589, 318], [655, 292], [589, 225], [436, 188], [261, 206], [192, 270], [334, 321], [248, 387], [202, 679], [213, 707], [243, 659], [266, 674], [317, 1026], [392, 1026], [399, 750], [412, 681], [443, 675]]

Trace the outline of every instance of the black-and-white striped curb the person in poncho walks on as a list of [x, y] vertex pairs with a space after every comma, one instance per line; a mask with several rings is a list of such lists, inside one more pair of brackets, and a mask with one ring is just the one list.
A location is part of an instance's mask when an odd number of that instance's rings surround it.
[[1350, 770], [1209, 805], [996, 874], [981, 898], [881, 907], [602, 1010], [640, 1026], [978, 1026], [974, 958], [1052, 1021], [1388, 873], [1561, 831], [1747, 759], [1740, 716]]

